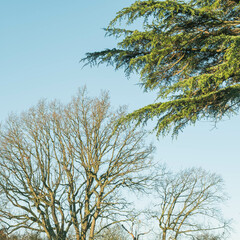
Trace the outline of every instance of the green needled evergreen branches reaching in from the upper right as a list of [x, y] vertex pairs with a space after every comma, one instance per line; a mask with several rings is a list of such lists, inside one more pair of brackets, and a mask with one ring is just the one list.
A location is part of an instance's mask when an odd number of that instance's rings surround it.
[[[220, 120], [240, 107], [239, 0], [146, 0], [119, 11], [106, 30], [117, 48], [87, 53], [86, 64], [107, 63], [140, 74], [160, 102], [124, 120], [157, 118], [157, 135], [173, 135], [199, 119]], [[118, 27], [142, 21], [138, 30]]]

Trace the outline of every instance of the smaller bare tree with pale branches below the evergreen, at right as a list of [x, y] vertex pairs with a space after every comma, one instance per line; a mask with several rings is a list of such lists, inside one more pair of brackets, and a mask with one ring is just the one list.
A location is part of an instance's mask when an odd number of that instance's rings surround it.
[[156, 184], [156, 201], [149, 211], [157, 219], [161, 239], [188, 239], [194, 234], [227, 227], [220, 206], [226, 198], [223, 180], [201, 168], [166, 173]]

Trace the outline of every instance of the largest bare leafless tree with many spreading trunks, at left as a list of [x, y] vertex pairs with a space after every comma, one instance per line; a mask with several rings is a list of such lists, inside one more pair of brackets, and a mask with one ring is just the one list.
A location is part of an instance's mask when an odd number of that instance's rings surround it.
[[116, 125], [107, 93], [89, 98], [85, 90], [68, 105], [41, 101], [12, 115], [0, 132], [0, 189], [8, 204], [0, 218], [14, 232], [45, 232], [64, 240], [93, 239], [96, 221], [117, 222], [128, 202], [123, 188], [143, 189], [150, 178], [153, 147], [146, 132]]

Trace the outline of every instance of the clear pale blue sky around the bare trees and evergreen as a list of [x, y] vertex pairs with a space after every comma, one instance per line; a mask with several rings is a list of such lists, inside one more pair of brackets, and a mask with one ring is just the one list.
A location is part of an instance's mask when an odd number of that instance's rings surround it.
[[[137, 109], [155, 99], [136, 85], [137, 76], [126, 79], [111, 67], [85, 67], [84, 53], [115, 46], [105, 38], [106, 27], [129, 0], [1, 0], [0, 1], [0, 121], [21, 112], [40, 99], [68, 102], [86, 85], [91, 95], [108, 89], [112, 104]], [[155, 136], [155, 159], [173, 169], [202, 166], [225, 180], [230, 200], [225, 215], [234, 218], [240, 239], [240, 116], [217, 124], [200, 122], [187, 127], [176, 140]], [[150, 124], [151, 126], [151, 124]]]

